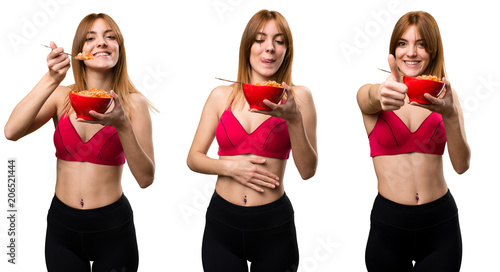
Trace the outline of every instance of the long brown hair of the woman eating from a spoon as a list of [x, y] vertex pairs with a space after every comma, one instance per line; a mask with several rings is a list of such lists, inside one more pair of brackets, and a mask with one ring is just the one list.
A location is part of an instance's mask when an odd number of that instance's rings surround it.
[[[119, 47], [119, 58], [116, 65], [112, 68], [112, 81], [111, 81], [111, 89], [118, 95], [120, 99], [120, 103], [123, 106], [123, 109], [126, 113], [131, 107], [130, 95], [133, 93], [137, 93], [142, 95], [132, 83], [132, 80], [128, 76], [127, 73], [127, 53], [125, 51], [125, 44], [122, 32], [120, 28], [116, 24], [116, 22], [105, 13], [91, 13], [85, 16], [78, 28], [76, 29], [75, 37], [73, 38], [73, 48], [71, 50], [71, 54], [73, 56], [78, 55], [78, 53], [82, 52], [83, 45], [85, 43], [85, 39], [87, 38], [88, 32], [91, 30], [92, 25], [97, 19], [103, 19], [106, 24], [111, 28], [116, 37], [116, 42]], [[75, 78], [75, 83], [69, 86], [72, 90], [88, 90], [93, 88], [94, 86], [87, 86], [87, 78], [86, 78], [86, 66], [83, 61], [76, 60], [74, 58], [71, 59], [71, 66], [73, 67], [73, 76]], [[148, 107], [154, 111], [158, 111], [156, 108], [152, 106], [152, 104], [146, 99], [148, 102]], [[71, 112], [73, 109], [70, 106], [69, 98], [66, 98], [65, 106], [63, 107], [64, 112]]]

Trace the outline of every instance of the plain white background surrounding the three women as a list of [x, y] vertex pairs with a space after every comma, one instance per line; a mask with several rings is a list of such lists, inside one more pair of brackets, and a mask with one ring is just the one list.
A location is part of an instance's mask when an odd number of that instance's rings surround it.
[[[162, 1], [163, 2], [163, 1]], [[266, 8], [291, 27], [295, 84], [309, 87], [318, 111], [319, 165], [300, 179], [288, 162], [286, 191], [296, 212], [299, 271], [365, 271], [364, 250], [376, 177], [356, 103], [365, 83], [384, 81], [390, 34], [404, 13], [437, 20], [452, 86], [462, 99], [472, 149], [463, 175], [445, 177], [460, 214], [462, 271], [498, 265], [500, 38], [494, 1], [9, 1], [0, 17], [0, 124], [47, 71], [51, 40], [70, 52], [80, 20], [109, 14], [125, 37], [129, 75], [161, 111], [153, 115], [156, 179], [142, 190], [125, 167], [135, 214], [139, 271], [202, 271], [205, 210], [215, 177], [191, 172], [186, 156], [210, 91], [236, 79], [239, 42], [250, 17]], [[452, 5], [452, 7], [451, 7]], [[346, 48], [349, 50], [346, 51]], [[63, 85], [73, 82], [70, 70]], [[53, 124], [17, 142], [0, 139], [0, 271], [45, 271], [46, 215], [54, 194]], [[216, 156], [216, 144], [211, 156]], [[17, 256], [7, 263], [7, 160], [17, 161]], [[419, 169], [419, 171], [425, 169]], [[402, 171], [405, 171], [402, 169]]]

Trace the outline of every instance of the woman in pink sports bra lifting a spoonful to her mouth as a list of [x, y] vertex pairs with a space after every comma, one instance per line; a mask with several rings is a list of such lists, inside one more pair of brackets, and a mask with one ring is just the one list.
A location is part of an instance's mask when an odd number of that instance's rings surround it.
[[[141, 188], [153, 182], [150, 104], [127, 74], [123, 36], [111, 17], [89, 14], [78, 26], [72, 55], [75, 84], [59, 85], [70, 67], [63, 48], [51, 42], [49, 71], [14, 108], [5, 136], [18, 140], [53, 119], [57, 180], [47, 218], [45, 256], [49, 271], [137, 271], [138, 250], [132, 209], [123, 195], [125, 158]], [[110, 92], [96, 121], [76, 118], [68, 92], [97, 88]]]

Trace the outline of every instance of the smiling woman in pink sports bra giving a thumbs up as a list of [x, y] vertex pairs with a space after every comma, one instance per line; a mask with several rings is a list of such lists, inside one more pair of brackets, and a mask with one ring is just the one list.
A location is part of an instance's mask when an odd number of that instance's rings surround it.
[[[444, 148], [455, 171], [469, 168], [470, 149], [458, 97], [445, 78], [439, 28], [426, 12], [399, 19], [390, 42], [391, 75], [362, 86], [358, 104], [370, 140], [379, 194], [366, 247], [368, 271], [459, 271], [457, 206], [443, 175]], [[445, 94], [409, 102], [401, 76], [436, 75]], [[415, 261], [415, 265], [412, 264]]]

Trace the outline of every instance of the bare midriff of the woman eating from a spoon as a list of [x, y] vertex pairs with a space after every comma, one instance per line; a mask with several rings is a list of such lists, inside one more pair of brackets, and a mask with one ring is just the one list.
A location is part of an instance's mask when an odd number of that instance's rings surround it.
[[123, 165], [57, 160], [56, 196], [76, 209], [95, 209], [116, 202], [122, 195]]

